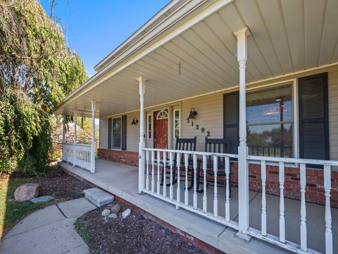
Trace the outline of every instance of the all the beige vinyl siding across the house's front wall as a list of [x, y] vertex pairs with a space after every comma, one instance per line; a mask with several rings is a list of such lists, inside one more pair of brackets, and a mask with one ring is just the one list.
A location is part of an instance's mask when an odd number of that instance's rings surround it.
[[[330, 159], [338, 160], [338, 66], [289, 75], [286, 78], [265, 80], [260, 83], [249, 84], [247, 87], [251, 88], [261, 85], [279, 84], [287, 80], [296, 80], [297, 78], [324, 72], [328, 73]], [[207, 131], [211, 132], [211, 138], [223, 138], [223, 95], [226, 92], [234, 92], [236, 90], [238, 90], [238, 88], [182, 100], [182, 102], [180, 102], [182, 104], [180, 111], [180, 136], [182, 138], [193, 138], [196, 136], [197, 150], [199, 151], [204, 151], [204, 139]], [[163, 105], [162, 108], [164, 107], [165, 105]], [[190, 123], [187, 123], [187, 117], [189, 116], [189, 111], [192, 107], [194, 107], [198, 113], [196, 119], [191, 120], [194, 121], [194, 126], [192, 126], [191, 121]], [[177, 106], [177, 103], [173, 105], [173, 109], [178, 108], [180, 108], [180, 106]], [[146, 111], [145, 117], [147, 114], [150, 114], [149, 112], [151, 111]], [[139, 143], [139, 124], [137, 124], [137, 126], [131, 125], [133, 117], [139, 119], [139, 111], [127, 114], [127, 150], [137, 152]], [[196, 130], [196, 124], [199, 124], [199, 130]], [[204, 133], [201, 133], [202, 127], [205, 128]], [[144, 130], [146, 132], [146, 119]], [[108, 119], [101, 119], [100, 132], [100, 147], [107, 147]], [[151, 140], [146, 138], [146, 142], [149, 143]], [[146, 146], [151, 147], [151, 144], [147, 144]], [[175, 138], [173, 139], [173, 147], [175, 147]]]

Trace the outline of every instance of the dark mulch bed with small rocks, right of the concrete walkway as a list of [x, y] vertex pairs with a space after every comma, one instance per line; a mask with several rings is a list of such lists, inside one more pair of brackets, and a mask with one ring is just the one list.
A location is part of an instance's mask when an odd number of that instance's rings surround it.
[[121, 209], [117, 219], [101, 216], [101, 212], [111, 205], [100, 207], [77, 219], [77, 224], [82, 224], [87, 236], [91, 236], [84, 241], [93, 253], [206, 253], [169, 229], [146, 219], [139, 212], [132, 210], [123, 219], [122, 212], [130, 207], [119, 204]]

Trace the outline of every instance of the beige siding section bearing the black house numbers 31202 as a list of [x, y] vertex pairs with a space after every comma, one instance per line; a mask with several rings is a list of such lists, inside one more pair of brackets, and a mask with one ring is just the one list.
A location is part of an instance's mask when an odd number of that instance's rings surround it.
[[[190, 109], [194, 107], [197, 111], [195, 119], [187, 123]], [[182, 138], [197, 137], [197, 151], [204, 151], [204, 140], [207, 131], [210, 131], [210, 138], [223, 138], [223, 93], [218, 92], [212, 95], [187, 99], [182, 102]], [[194, 121], [194, 126], [192, 126]], [[196, 130], [196, 124], [199, 130]], [[204, 128], [204, 133], [201, 132]]]

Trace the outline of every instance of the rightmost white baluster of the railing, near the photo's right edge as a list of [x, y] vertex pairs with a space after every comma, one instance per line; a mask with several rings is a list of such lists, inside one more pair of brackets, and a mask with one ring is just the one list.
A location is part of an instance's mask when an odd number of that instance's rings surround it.
[[325, 188], [325, 253], [333, 253], [332, 243], [332, 218], [330, 205], [331, 191], [331, 167], [324, 166], [324, 188]]

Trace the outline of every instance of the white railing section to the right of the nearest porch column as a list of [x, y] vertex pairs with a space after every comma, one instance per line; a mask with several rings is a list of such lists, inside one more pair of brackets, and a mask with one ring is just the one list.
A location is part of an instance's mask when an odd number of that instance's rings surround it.
[[[323, 166], [324, 175], [324, 189], [325, 189], [325, 232], [318, 232], [318, 235], [325, 234], [325, 253], [333, 253], [332, 242], [332, 218], [331, 218], [331, 205], [330, 205], [330, 192], [331, 192], [331, 168], [337, 167], [336, 161], [324, 161], [315, 159], [291, 159], [291, 158], [277, 158], [277, 157], [261, 157], [249, 156], [250, 163], [261, 164], [261, 182], [262, 182], [262, 212], [261, 212], [261, 230], [249, 228], [249, 234], [256, 238], [275, 243], [278, 246], [287, 248], [296, 253], [315, 253], [315, 250], [308, 248], [307, 244], [307, 229], [306, 229], [306, 164]], [[279, 168], [279, 187], [280, 187], [280, 234], [274, 236], [268, 234], [266, 231], [266, 195], [265, 195], [265, 181], [266, 181], [266, 164], [274, 163]], [[285, 236], [285, 207], [284, 207], [284, 169], [286, 165], [299, 165], [300, 186], [301, 186], [301, 218], [299, 221], [300, 226], [300, 239], [301, 243], [296, 244], [287, 240]]]

